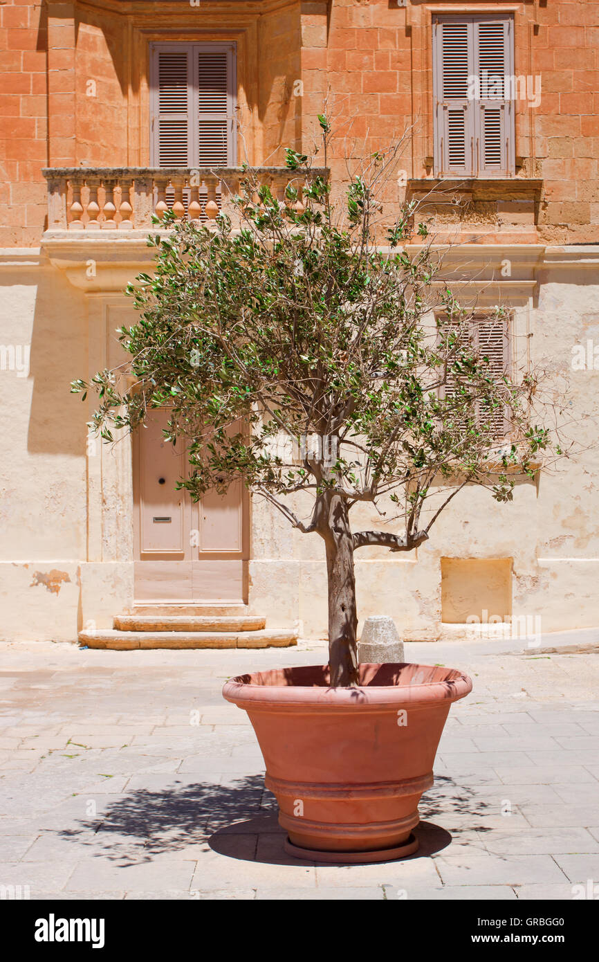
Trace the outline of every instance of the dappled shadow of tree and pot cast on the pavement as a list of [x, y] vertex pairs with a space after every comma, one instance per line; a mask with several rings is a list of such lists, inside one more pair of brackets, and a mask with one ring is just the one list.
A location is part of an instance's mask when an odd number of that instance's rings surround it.
[[[449, 813], [468, 815], [468, 831], [488, 831], [477, 824], [472, 795], [441, 775], [434, 789], [420, 802], [421, 822], [415, 829], [419, 848], [411, 859], [428, 857], [447, 848], [463, 828], [442, 827]], [[477, 800], [479, 811], [488, 807]], [[298, 860], [284, 850], [285, 832], [277, 820], [275, 797], [264, 788], [263, 775], [232, 779], [228, 785], [211, 782], [189, 784], [173, 778], [159, 791], [137, 789], [116, 798], [101, 817], [79, 820], [58, 834], [77, 842], [89, 854], [117, 862], [121, 867], [151, 862], [164, 853], [198, 847], [230, 858], [278, 865]], [[438, 817], [441, 824], [434, 820]], [[308, 864], [308, 863], [304, 863]], [[342, 859], [339, 860], [342, 864]]]

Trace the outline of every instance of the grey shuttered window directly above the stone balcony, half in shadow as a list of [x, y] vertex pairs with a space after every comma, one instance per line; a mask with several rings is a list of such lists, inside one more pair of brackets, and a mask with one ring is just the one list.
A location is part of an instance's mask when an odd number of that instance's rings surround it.
[[231, 43], [152, 44], [152, 166], [236, 165], [235, 66]]

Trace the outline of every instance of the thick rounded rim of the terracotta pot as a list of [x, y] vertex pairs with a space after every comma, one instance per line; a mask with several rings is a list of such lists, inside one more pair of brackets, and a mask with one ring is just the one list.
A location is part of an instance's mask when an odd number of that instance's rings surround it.
[[[375, 669], [383, 666], [378, 663], [363, 663]], [[414, 665], [418, 669], [436, 669], [441, 666], [421, 665], [414, 662], [393, 663], [391, 667], [406, 667]], [[321, 671], [322, 665], [295, 666], [301, 669], [316, 669]], [[389, 667], [389, 666], [387, 666]], [[445, 668], [445, 666], [442, 666]], [[453, 672], [454, 677], [449, 680], [416, 682], [411, 685], [364, 685], [359, 688], [329, 688], [324, 685], [264, 685], [246, 679], [253, 675], [268, 674], [270, 671], [286, 671], [285, 669], [271, 669], [255, 671], [252, 674], [237, 675], [230, 678], [223, 685], [222, 694], [227, 701], [232, 701], [239, 707], [258, 707], [258, 705], [284, 707], [285, 705], [328, 706], [343, 710], [364, 710], [382, 705], [393, 707], [405, 704], [411, 708], [426, 707], [434, 703], [458, 701], [472, 691], [472, 679], [458, 669], [446, 669]]]

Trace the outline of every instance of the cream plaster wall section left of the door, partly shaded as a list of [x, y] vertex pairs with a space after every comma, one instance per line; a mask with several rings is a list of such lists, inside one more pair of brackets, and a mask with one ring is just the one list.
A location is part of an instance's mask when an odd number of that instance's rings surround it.
[[[87, 413], [68, 384], [87, 367], [85, 303], [36, 251], [0, 261], [0, 637], [72, 641], [87, 552]], [[29, 364], [15, 369], [11, 348]]]

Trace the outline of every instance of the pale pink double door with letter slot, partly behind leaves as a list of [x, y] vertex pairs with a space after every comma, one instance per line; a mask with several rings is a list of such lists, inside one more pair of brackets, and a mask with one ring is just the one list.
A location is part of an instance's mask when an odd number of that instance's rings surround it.
[[176, 482], [185, 477], [181, 442], [164, 440], [157, 411], [134, 442], [137, 601], [238, 602], [245, 599], [247, 496], [240, 482], [198, 502]]

